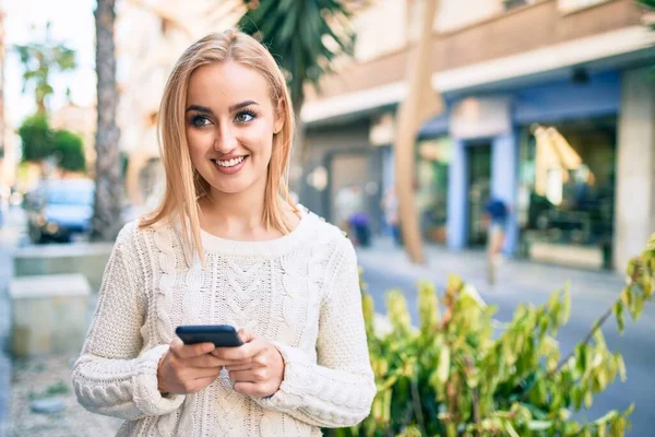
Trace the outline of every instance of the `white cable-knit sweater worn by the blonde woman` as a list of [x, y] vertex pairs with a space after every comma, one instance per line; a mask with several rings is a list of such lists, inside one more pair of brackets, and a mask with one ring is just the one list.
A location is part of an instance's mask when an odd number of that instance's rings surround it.
[[[376, 385], [349, 240], [309, 212], [274, 240], [202, 239], [204, 269], [177, 226], [121, 231], [73, 370], [80, 403], [126, 418], [119, 436], [320, 436], [362, 421]], [[224, 370], [195, 394], [162, 397], [157, 365], [179, 324], [271, 340], [285, 362], [279, 390], [237, 393]]]

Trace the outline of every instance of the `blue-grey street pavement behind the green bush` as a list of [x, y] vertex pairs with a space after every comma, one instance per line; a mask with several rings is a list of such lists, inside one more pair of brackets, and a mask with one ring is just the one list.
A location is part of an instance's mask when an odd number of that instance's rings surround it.
[[[413, 320], [417, 321], [416, 282], [431, 281], [437, 285], [438, 293], [442, 293], [446, 274], [457, 273], [466, 282], [474, 284], [488, 304], [498, 306], [496, 319], [509, 321], [519, 304], [543, 304], [551, 292], [570, 281], [571, 318], [558, 336], [562, 356], [571, 352], [586, 335], [593, 322], [615, 300], [622, 284], [621, 277], [616, 273], [509, 260], [500, 269], [498, 284], [489, 287], [485, 280], [485, 258], [481, 251], [452, 253], [444, 248], [428, 246], [426, 255], [427, 265], [413, 265], [404, 252], [385, 239], [376, 240], [371, 248], [358, 250], [364, 279], [368, 292], [374, 298], [378, 312], [385, 311], [384, 292], [401, 288], [407, 298]], [[655, 368], [655, 305], [646, 305], [636, 323], [627, 319], [622, 336], [617, 332], [614, 319], [606, 323], [603, 331], [608, 347], [623, 355], [628, 378], [626, 382], [617, 378], [606, 392], [594, 399], [590, 411], [580, 414], [580, 417], [593, 421], [609, 410], [622, 411], [634, 402], [635, 410], [631, 417], [633, 427], [628, 435], [652, 436], [655, 426], [655, 416], [651, 414], [655, 397], [655, 374], [652, 371]]]

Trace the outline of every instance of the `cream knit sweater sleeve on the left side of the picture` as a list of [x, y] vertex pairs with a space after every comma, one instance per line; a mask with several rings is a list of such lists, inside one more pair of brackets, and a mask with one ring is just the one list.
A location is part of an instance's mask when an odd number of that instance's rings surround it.
[[86, 410], [138, 420], [175, 411], [184, 395], [164, 397], [157, 388], [157, 367], [168, 345], [142, 351], [146, 304], [136, 286], [142, 281], [134, 236], [126, 235], [134, 231], [128, 226], [105, 268], [96, 311], [73, 368], [73, 387]]

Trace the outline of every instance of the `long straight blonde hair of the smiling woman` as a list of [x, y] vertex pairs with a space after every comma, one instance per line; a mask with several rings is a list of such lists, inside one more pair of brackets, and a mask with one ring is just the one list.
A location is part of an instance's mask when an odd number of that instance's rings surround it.
[[195, 69], [209, 63], [226, 61], [235, 61], [258, 71], [269, 82], [273, 107], [277, 108], [278, 103], [283, 103], [285, 121], [282, 130], [273, 138], [273, 152], [264, 194], [264, 224], [288, 234], [290, 226], [282, 210], [283, 202], [297, 211], [296, 205], [289, 200], [287, 187], [294, 139], [294, 108], [282, 70], [269, 50], [245, 33], [229, 29], [205, 36], [184, 50], [172, 68], [164, 88], [158, 117], [158, 139], [166, 174], [166, 191], [158, 206], [140, 223], [141, 227], [147, 227], [177, 213], [182, 226], [182, 240], [187, 253], [195, 251], [203, 262], [198, 199], [210, 191], [210, 186], [191, 164], [184, 128], [187, 91]]

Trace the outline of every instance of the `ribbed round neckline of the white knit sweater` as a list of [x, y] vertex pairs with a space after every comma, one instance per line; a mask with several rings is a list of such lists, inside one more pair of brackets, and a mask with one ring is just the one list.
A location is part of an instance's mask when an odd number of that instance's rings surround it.
[[247, 257], [271, 257], [285, 253], [298, 244], [306, 241], [311, 228], [312, 214], [298, 204], [300, 222], [290, 233], [277, 238], [266, 240], [234, 240], [210, 234], [200, 228], [202, 246], [205, 252], [222, 255], [237, 255]]

